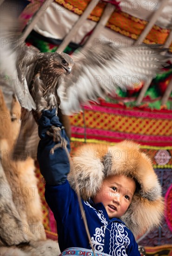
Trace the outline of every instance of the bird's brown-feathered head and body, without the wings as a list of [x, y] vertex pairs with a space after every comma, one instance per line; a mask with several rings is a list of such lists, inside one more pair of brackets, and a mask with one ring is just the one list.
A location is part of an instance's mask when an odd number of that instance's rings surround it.
[[68, 54], [37, 54], [33, 78], [29, 84], [29, 91], [37, 106], [36, 111], [33, 111], [36, 121], [40, 118], [42, 110], [57, 108], [57, 89], [72, 67], [73, 60]]

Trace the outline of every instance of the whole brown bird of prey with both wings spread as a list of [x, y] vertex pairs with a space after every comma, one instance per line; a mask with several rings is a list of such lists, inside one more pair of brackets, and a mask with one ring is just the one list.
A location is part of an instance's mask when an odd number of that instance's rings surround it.
[[[18, 79], [13, 83], [17, 98], [23, 108], [33, 109], [36, 121], [42, 110], [57, 104], [63, 115], [78, 113], [82, 105], [105, 98], [117, 87], [126, 90], [155, 77], [165, 65], [161, 52], [166, 49], [159, 45], [115, 47], [104, 43], [81, 49], [72, 57], [39, 53], [20, 43], [19, 24], [4, 13], [0, 22], [0, 74]], [[8, 39], [5, 43], [4, 38]]]

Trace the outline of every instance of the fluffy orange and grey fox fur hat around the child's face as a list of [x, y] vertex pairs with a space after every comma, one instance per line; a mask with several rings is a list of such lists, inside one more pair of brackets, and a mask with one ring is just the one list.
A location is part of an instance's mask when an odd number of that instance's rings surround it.
[[[139, 183], [139, 189], [121, 220], [136, 237], [159, 226], [164, 212], [161, 186], [150, 158], [140, 151], [139, 144], [132, 141], [122, 141], [115, 146], [86, 144], [76, 151], [73, 165], [84, 200], [95, 196], [108, 176], [134, 178]], [[72, 172], [68, 180], [75, 189]]]

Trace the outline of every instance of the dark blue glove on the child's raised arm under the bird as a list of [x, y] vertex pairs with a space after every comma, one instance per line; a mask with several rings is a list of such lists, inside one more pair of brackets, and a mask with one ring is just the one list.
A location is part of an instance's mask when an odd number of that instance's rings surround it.
[[[64, 148], [56, 148], [54, 154], [50, 151], [60, 142], [54, 142], [53, 137], [46, 134], [52, 127], [62, 128], [59, 117], [55, 115], [56, 109], [43, 111], [38, 124], [40, 142], [38, 145], [37, 159], [40, 164], [40, 173], [44, 176], [49, 185], [60, 185], [66, 181], [67, 174], [70, 171], [68, 156]], [[65, 129], [60, 130], [60, 135], [67, 142], [67, 149], [70, 152], [70, 142], [66, 136]]]

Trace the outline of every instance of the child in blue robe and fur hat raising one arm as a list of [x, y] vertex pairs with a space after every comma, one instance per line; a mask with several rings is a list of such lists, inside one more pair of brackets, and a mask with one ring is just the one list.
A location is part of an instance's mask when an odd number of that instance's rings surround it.
[[[57, 221], [60, 250], [70, 248], [64, 255], [81, 255], [84, 252], [76, 247], [91, 249], [75, 193], [76, 175], [96, 253], [139, 256], [133, 234], [140, 236], [158, 226], [163, 214], [161, 187], [151, 161], [130, 141], [111, 147], [85, 145], [73, 157], [75, 173], [69, 173], [65, 149], [50, 154], [56, 142], [46, 132], [52, 125], [61, 128], [55, 109], [44, 111], [39, 120], [38, 161], [46, 180], [46, 201]], [[60, 135], [69, 149], [63, 129]]]

